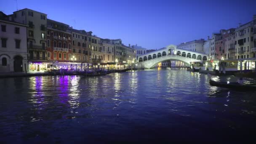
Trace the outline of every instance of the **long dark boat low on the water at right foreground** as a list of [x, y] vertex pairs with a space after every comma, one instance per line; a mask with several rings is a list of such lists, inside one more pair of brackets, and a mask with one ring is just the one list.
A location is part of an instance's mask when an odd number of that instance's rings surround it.
[[240, 84], [235, 82], [216, 82], [211, 79], [209, 83], [212, 86], [218, 86], [222, 88], [232, 88], [240, 91], [256, 91], [256, 84]]

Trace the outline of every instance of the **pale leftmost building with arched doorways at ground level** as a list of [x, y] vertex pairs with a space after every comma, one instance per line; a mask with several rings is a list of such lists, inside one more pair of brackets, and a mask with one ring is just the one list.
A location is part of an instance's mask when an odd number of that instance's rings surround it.
[[0, 72], [24, 72], [28, 65], [27, 25], [0, 12], [0, 26]]

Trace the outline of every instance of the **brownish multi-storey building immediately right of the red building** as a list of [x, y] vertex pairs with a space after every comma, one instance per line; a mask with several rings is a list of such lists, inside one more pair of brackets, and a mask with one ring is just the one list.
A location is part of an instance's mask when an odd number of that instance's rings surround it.
[[91, 33], [85, 30], [72, 29], [72, 61], [78, 68], [91, 66]]

